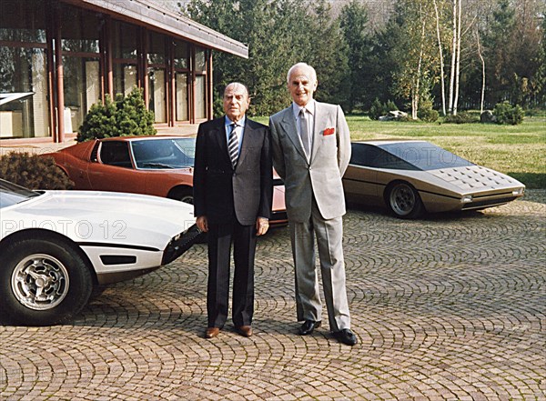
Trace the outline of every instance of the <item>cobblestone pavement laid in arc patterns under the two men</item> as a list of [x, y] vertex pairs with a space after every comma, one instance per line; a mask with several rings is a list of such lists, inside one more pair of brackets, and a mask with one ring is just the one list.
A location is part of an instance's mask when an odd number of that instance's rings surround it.
[[296, 334], [286, 227], [258, 242], [255, 336], [204, 339], [194, 246], [73, 325], [0, 326], [0, 399], [544, 400], [545, 212], [545, 191], [420, 221], [349, 210], [354, 347]]

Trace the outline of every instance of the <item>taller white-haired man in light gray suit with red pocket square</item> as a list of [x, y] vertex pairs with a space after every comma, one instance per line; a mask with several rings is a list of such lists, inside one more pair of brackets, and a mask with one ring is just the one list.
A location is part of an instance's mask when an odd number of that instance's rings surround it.
[[322, 306], [315, 266], [317, 236], [329, 328], [343, 344], [354, 346], [345, 288], [341, 239], [345, 198], [341, 176], [350, 158], [349, 126], [339, 105], [313, 99], [317, 73], [298, 63], [288, 70], [293, 103], [269, 118], [273, 165], [284, 180], [285, 198], [296, 270], [299, 334], [320, 326]]

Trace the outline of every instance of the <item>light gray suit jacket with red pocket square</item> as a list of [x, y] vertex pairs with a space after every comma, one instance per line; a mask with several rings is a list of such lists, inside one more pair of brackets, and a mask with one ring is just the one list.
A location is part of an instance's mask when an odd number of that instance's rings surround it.
[[271, 115], [273, 165], [283, 179], [288, 220], [307, 221], [315, 197], [324, 219], [345, 214], [341, 177], [349, 165], [350, 134], [339, 105], [316, 103], [313, 147], [307, 159], [292, 105]]

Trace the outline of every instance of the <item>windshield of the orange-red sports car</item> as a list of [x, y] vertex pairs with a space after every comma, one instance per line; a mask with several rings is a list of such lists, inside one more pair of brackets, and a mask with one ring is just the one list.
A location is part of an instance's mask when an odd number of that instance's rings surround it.
[[193, 167], [195, 138], [166, 138], [132, 141], [136, 168]]

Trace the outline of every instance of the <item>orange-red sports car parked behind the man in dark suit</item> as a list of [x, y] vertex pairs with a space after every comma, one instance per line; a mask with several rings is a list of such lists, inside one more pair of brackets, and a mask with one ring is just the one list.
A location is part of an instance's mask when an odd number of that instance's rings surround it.
[[[196, 139], [119, 136], [66, 147], [52, 156], [76, 189], [129, 192], [193, 203]], [[275, 176], [271, 226], [287, 224], [284, 185]]]

